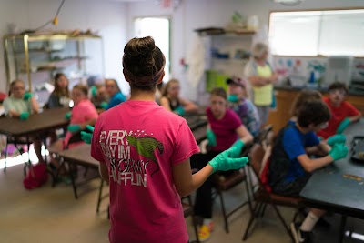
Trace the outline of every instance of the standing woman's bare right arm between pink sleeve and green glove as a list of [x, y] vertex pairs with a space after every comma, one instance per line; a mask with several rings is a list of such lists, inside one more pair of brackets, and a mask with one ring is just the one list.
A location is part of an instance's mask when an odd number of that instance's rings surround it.
[[186, 197], [200, 187], [212, 174], [213, 168], [207, 164], [192, 175], [189, 158], [172, 167], [175, 187], [180, 197]]

